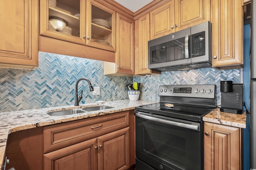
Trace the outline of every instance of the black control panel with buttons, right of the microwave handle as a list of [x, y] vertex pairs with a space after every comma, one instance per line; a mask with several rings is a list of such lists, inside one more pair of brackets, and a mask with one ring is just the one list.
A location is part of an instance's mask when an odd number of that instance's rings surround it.
[[205, 55], [205, 31], [191, 35], [192, 57]]

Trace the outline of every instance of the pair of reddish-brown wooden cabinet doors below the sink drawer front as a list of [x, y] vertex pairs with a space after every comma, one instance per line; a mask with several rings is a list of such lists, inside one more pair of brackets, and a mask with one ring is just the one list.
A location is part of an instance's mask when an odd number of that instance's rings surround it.
[[44, 170], [126, 170], [129, 127], [44, 154]]

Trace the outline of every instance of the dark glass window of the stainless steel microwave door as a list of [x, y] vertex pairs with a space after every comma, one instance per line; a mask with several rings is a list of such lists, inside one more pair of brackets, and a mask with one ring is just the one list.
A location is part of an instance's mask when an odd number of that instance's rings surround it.
[[176, 39], [150, 47], [150, 64], [183, 60], [185, 58], [185, 38]]

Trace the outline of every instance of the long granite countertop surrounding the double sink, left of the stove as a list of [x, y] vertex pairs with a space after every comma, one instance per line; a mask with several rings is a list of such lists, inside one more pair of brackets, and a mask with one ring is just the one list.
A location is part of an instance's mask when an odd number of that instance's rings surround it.
[[[11, 111], [0, 113], [0, 169], [2, 169], [2, 163], [4, 160], [4, 154], [6, 149], [6, 142], [10, 133], [21, 131], [25, 129], [31, 129], [40, 126], [53, 125], [56, 123], [68, 122], [78, 119], [84, 119], [88, 117], [95, 117], [99, 115], [106, 115], [110, 113], [117, 113], [120, 111], [132, 110], [136, 106], [142, 106], [146, 104], [158, 103], [156, 101], [130, 101], [130, 100], [117, 100], [112, 102], [105, 102], [102, 104], [90, 103], [82, 104], [81, 106], [60, 106], [49, 107], [42, 109], [31, 109], [22, 111]], [[89, 106], [110, 106], [111, 109], [90, 111], [86, 113], [77, 113], [73, 115], [65, 116], [50, 116], [47, 113], [52, 111], [61, 111], [68, 109], [83, 108]]]

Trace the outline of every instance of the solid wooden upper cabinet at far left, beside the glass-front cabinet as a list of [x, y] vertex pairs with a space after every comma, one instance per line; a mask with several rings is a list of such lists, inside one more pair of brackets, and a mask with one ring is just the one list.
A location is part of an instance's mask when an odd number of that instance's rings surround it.
[[0, 1], [0, 67], [38, 66], [38, 0]]

